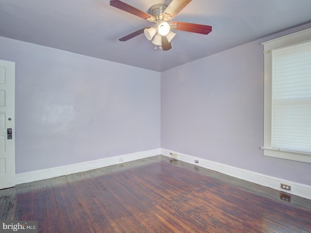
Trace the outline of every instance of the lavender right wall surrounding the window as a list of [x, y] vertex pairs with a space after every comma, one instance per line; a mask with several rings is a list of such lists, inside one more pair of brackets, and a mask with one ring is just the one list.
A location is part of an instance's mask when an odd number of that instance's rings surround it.
[[[310, 27], [310, 25], [309, 25]], [[161, 148], [311, 185], [311, 164], [266, 157], [263, 53], [269, 36], [161, 73]]]

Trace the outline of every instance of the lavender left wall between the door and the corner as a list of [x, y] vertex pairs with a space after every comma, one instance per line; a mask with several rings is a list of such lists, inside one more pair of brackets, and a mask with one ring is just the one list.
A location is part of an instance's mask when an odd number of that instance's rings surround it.
[[16, 63], [16, 172], [160, 148], [160, 73], [0, 37]]

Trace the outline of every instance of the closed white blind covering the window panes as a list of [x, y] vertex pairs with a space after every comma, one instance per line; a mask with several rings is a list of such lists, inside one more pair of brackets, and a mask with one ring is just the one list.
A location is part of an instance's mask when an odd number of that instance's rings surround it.
[[271, 147], [311, 152], [311, 41], [272, 50]]

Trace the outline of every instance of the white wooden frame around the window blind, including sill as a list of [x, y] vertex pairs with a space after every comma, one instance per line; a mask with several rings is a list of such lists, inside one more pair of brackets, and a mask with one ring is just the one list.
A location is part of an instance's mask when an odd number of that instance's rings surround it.
[[279, 150], [271, 147], [272, 127], [272, 50], [311, 41], [311, 28], [260, 43], [264, 52], [264, 114], [263, 114], [263, 155], [311, 163], [311, 153]]

